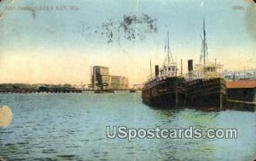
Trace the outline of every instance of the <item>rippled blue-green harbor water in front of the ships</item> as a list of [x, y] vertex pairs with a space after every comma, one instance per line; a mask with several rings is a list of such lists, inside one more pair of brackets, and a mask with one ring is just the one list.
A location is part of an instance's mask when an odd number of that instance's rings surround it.
[[[256, 112], [156, 110], [140, 94], [2, 94], [0, 160], [253, 160]], [[106, 126], [236, 128], [237, 139], [108, 139]]]

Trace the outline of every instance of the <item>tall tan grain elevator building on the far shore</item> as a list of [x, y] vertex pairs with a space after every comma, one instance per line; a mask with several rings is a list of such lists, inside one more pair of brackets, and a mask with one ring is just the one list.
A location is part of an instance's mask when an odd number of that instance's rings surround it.
[[93, 66], [91, 84], [93, 89], [124, 90], [129, 89], [128, 79], [124, 76], [109, 75], [108, 67]]

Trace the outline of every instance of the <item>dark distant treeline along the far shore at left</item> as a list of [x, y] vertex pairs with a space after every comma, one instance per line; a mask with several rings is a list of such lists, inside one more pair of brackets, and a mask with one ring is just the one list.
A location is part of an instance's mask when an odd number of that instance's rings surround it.
[[1, 83], [0, 93], [79, 93], [82, 90], [70, 84]]

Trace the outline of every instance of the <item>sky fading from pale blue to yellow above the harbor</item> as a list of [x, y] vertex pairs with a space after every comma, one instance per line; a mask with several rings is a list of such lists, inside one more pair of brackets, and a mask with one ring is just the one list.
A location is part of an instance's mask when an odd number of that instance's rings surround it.
[[142, 83], [166, 57], [167, 32], [187, 72], [204, 19], [209, 60], [256, 68], [256, 7], [244, 0], [3, 0], [0, 83], [90, 83], [96, 65]]

